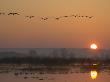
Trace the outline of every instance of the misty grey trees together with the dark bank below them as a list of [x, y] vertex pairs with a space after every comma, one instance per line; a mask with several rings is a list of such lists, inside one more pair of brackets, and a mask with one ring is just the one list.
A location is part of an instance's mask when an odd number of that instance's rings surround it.
[[[41, 50], [43, 52], [43, 50]], [[78, 55], [78, 54], [77, 54]], [[49, 50], [49, 53], [39, 53], [36, 50], [29, 50], [28, 53], [0, 52], [1, 64], [35, 64], [35, 65], [74, 65], [74, 64], [109, 64], [108, 54], [100, 54], [101, 58], [76, 57], [74, 52], [65, 48]]]

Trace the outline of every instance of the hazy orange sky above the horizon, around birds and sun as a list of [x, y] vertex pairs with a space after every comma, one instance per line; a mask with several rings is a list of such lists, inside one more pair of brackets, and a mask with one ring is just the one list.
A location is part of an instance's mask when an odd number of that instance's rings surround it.
[[[110, 48], [110, 0], [0, 0], [0, 48]], [[88, 18], [54, 17], [65, 15]], [[33, 15], [29, 20], [25, 16]], [[42, 21], [41, 17], [49, 17]]]

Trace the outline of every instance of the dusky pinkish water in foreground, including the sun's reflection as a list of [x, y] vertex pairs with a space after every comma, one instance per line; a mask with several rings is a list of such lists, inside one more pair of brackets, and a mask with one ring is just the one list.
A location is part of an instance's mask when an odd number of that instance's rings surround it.
[[2, 64], [0, 82], [110, 82], [110, 66]]

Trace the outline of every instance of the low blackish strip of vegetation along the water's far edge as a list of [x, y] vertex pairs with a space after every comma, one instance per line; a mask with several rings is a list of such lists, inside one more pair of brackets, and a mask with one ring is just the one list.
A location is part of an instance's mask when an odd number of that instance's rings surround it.
[[110, 64], [110, 59], [96, 60], [91, 58], [49, 58], [49, 57], [10, 57], [0, 59], [0, 64], [31, 64], [31, 65], [74, 65], [74, 64]]

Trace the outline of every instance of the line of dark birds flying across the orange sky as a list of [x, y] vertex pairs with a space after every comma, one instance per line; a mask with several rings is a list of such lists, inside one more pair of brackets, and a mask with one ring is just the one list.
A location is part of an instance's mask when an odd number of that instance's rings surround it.
[[[10, 13], [4, 13], [4, 12], [0, 12], [0, 15], [9, 15], [9, 16], [17, 16], [17, 15], [21, 15], [20, 13], [17, 13], [17, 12], [10, 12]], [[35, 18], [36, 16], [34, 15], [27, 15], [25, 16], [25, 18], [28, 18], [28, 19], [33, 19]], [[72, 15], [65, 15], [65, 16], [60, 16], [60, 17], [53, 17], [55, 20], [60, 20], [62, 18], [69, 18], [69, 17], [74, 17], [74, 18], [88, 18], [88, 19], [91, 19], [93, 18], [93, 16], [84, 16], [84, 15], [78, 15], [78, 14], [72, 14]], [[52, 18], [52, 17], [51, 17]], [[48, 20], [50, 19], [50, 17], [40, 17], [41, 20]]]

